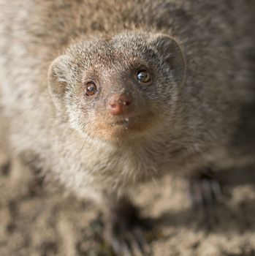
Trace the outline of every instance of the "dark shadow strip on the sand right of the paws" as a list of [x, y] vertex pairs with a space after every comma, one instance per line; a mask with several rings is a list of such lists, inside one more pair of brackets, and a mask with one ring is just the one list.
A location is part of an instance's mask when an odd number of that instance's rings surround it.
[[188, 227], [194, 230], [206, 230], [216, 233], [243, 233], [255, 230], [255, 200], [243, 200], [237, 206], [227, 206], [224, 201], [210, 210], [199, 209], [193, 211], [164, 212], [154, 219], [157, 229], [166, 225], [172, 227]]

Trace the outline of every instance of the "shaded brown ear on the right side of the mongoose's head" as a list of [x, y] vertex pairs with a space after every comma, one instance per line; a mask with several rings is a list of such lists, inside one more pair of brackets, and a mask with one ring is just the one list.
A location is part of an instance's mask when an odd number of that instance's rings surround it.
[[153, 42], [156, 50], [163, 58], [162, 61], [170, 65], [178, 85], [182, 85], [186, 76], [186, 60], [178, 42], [167, 34], [159, 34]]

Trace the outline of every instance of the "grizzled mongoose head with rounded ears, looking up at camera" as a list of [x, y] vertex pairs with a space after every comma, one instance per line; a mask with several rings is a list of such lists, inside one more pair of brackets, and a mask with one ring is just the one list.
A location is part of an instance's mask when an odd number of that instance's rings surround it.
[[185, 62], [164, 34], [82, 40], [51, 64], [49, 90], [72, 127], [102, 140], [141, 136], [174, 116]]

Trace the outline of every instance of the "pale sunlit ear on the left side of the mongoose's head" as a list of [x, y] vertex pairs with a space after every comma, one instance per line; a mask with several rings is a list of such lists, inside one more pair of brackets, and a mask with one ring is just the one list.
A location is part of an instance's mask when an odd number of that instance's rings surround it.
[[50, 96], [53, 98], [53, 102], [58, 110], [64, 108], [64, 94], [68, 83], [68, 75], [71, 72], [69, 63], [70, 60], [68, 56], [58, 56], [50, 64], [47, 73]]

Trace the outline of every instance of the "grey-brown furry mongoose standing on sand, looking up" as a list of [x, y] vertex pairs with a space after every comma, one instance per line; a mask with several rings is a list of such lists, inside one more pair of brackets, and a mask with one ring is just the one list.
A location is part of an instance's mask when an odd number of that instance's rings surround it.
[[254, 162], [250, 4], [0, 1], [13, 151], [104, 206], [115, 252], [143, 249], [132, 187]]

